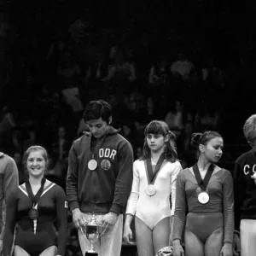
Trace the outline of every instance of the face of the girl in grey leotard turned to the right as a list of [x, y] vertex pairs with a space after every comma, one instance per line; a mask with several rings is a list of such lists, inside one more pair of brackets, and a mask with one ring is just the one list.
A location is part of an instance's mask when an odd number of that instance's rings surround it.
[[206, 159], [212, 163], [217, 163], [222, 156], [224, 146], [222, 137], [212, 138], [207, 145], [200, 145], [201, 154], [204, 154]]

